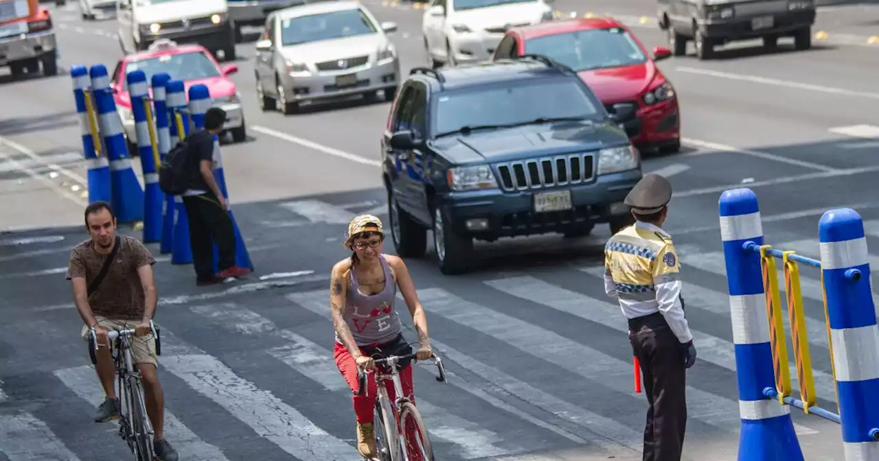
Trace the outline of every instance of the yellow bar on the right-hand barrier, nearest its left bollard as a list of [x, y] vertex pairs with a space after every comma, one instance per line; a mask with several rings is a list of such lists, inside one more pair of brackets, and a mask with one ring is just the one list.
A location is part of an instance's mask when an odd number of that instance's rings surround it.
[[[787, 405], [784, 398], [790, 396], [790, 364], [788, 363], [788, 344], [784, 335], [784, 322], [781, 318], [781, 292], [778, 288], [778, 268], [774, 256], [766, 250], [772, 245], [760, 246], [760, 268], [763, 270], [763, 287], [766, 292], [766, 316], [769, 319], [769, 340], [772, 342], [772, 358], [775, 369], [775, 389], [781, 405]], [[781, 340], [779, 339], [781, 336]]]

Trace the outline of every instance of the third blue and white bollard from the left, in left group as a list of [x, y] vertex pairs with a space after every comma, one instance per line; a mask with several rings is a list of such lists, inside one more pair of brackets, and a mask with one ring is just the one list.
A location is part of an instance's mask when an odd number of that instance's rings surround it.
[[[164, 194], [159, 189], [158, 140], [149, 102], [147, 75], [140, 69], [126, 76], [128, 94], [131, 96], [131, 112], [134, 114], [134, 133], [143, 169], [143, 242], [162, 240], [162, 202]], [[149, 106], [149, 117], [147, 116]]]

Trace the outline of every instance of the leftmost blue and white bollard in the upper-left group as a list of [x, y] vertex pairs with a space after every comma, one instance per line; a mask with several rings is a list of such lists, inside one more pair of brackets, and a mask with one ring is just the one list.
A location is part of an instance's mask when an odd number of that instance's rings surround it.
[[[76, 113], [79, 114], [79, 128], [83, 133], [83, 155], [86, 169], [89, 170], [86, 180], [89, 189], [89, 203], [97, 201], [110, 202], [113, 198], [110, 183], [110, 162], [106, 155], [98, 155], [101, 150], [100, 128], [98, 128], [98, 108], [94, 99], [89, 97], [86, 104], [86, 93], [91, 92], [89, 69], [85, 66], [71, 66], [70, 76], [73, 77], [73, 98], [76, 101]], [[92, 135], [91, 130], [95, 133]], [[97, 150], [95, 148], [98, 148]]]

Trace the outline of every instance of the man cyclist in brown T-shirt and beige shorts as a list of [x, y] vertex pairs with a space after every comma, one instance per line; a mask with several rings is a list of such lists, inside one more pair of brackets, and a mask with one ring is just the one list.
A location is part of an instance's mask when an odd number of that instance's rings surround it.
[[158, 299], [152, 268], [156, 259], [137, 239], [116, 235], [116, 217], [110, 204], [92, 203], [85, 207], [84, 214], [91, 239], [70, 251], [67, 279], [72, 281], [76, 310], [85, 323], [82, 337], [88, 341], [94, 332], [98, 340], [95, 370], [106, 398], [98, 407], [95, 422], [120, 417], [108, 328], [134, 327], [137, 334], [132, 338], [131, 352], [141, 372], [147, 415], [156, 433], [153, 447], [159, 459], [177, 461], [177, 451], [162, 437], [164, 395], [156, 375], [156, 338], [149, 328]]

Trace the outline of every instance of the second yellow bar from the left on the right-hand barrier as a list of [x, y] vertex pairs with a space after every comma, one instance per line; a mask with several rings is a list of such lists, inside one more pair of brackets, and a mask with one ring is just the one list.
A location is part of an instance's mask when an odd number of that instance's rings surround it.
[[803, 400], [803, 411], [809, 414], [809, 407], [816, 405], [817, 396], [815, 394], [815, 378], [812, 377], [812, 359], [806, 317], [803, 313], [800, 268], [797, 263], [788, 259], [788, 256], [793, 254], [793, 251], [785, 251], [781, 261], [784, 264], [785, 298], [788, 301], [788, 317], [790, 319], [791, 340], [794, 344], [796, 375], [800, 382], [800, 400]]

